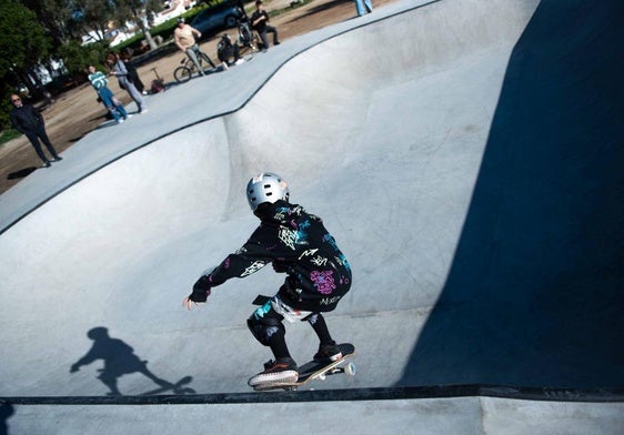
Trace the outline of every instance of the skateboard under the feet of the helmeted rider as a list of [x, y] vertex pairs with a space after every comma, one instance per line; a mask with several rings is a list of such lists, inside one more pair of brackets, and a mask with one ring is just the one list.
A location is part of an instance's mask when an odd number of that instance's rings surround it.
[[348, 362], [350, 357], [355, 355], [355, 347], [351, 343], [339, 344], [342, 357], [331, 363], [319, 363], [310, 361], [299, 367], [299, 380], [296, 382], [270, 382], [265, 384], [254, 385], [252, 388], [256, 392], [265, 392], [270, 390], [295, 391], [298, 387], [308, 384], [313, 380], [325, 381], [329, 375], [344, 373], [348, 376], [355, 375], [355, 364]]

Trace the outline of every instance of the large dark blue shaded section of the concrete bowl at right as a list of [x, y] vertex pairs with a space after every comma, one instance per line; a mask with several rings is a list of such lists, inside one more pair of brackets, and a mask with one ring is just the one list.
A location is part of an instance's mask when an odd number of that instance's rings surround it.
[[621, 2], [542, 2], [401, 384], [624, 385]]

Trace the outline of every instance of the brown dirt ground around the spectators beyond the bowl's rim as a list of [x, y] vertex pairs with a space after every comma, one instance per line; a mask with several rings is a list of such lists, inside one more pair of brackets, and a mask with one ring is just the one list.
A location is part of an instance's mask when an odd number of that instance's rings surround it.
[[[380, 7], [392, 1], [374, 0], [373, 6]], [[266, 10], [270, 11], [271, 3], [265, 2], [265, 4]], [[271, 22], [278, 28], [280, 40], [288, 43], [292, 37], [352, 19], [355, 16], [355, 6], [352, 0], [313, 0], [304, 7], [275, 17]], [[233, 31], [232, 29], [229, 32]], [[217, 59], [217, 39], [202, 41], [200, 45], [211, 59]], [[152, 68], [155, 67], [162, 79], [171, 82], [174, 80], [173, 70], [182, 58], [182, 53], [174, 52], [143, 64], [138, 69], [139, 75], [148, 85], [154, 79]], [[125, 104], [131, 102], [128, 93], [119, 88], [117, 80], [111, 80], [109, 85]], [[97, 95], [88, 83], [59, 95], [56, 102], [43, 112], [48, 135], [59, 153], [101, 124], [104, 115], [103, 105], [97, 102]], [[24, 136], [0, 146], [0, 194], [19, 183], [40, 165], [41, 161]]]

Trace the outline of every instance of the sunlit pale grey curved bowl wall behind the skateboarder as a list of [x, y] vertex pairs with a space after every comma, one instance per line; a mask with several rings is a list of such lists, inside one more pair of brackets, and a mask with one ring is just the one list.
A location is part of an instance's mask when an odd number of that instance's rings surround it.
[[[242, 188], [261, 170], [285, 176], [293, 201], [324, 218], [355, 271], [329, 322], [359, 348], [361, 375], [319, 387], [461, 381], [454, 366], [434, 377], [414, 370], [432, 347], [412, 351], [445, 286], [509, 59], [535, 7], [440, 1], [341, 34], [288, 62], [242, 110], [115, 161], [20, 221], [0, 237], [11, 355], [0, 394], [105, 394], [101, 363], [69, 373], [97, 326], [161, 378], [246, 391], [270, 354], [244, 321], [280, 276], [228, 283], [192, 313], [180, 303], [255, 227]], [[305, 325], [288, 338], [301, 363], [315, 351]], [[141, 394], [153, 383], [133, 373], [119, 387]]]

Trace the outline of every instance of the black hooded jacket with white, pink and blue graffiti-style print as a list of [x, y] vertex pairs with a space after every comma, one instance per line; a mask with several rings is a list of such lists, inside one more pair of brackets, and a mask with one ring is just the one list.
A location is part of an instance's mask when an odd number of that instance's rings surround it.
[[[210, 294], [210, 287], [232, 277], [245, 277], [272, 263], [286, 273], [279, 295], [293, 308], [326, 312], [351, 287], [351, 266], [323, 221], [302, 206], [278, 201], [260, 215], [261, 224], [246, 243], [228, 255], [208, 276], [195, 284], [192, 300]], [[197, 302], [203, 302], [198, 300]]]

